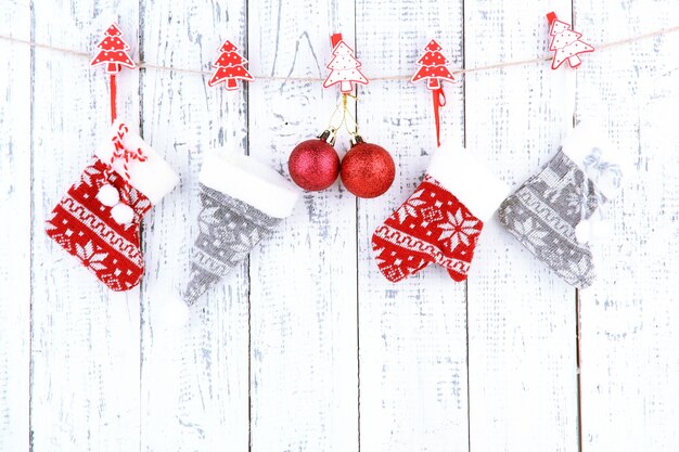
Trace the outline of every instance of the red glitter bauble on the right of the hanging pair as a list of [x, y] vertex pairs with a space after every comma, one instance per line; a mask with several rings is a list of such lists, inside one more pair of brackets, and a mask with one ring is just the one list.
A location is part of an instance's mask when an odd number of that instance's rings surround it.
[[377, 197], [392, 186], [394, 159], [382, 146], [355, 144], [342, 160], [342, 182], [358, 197]]

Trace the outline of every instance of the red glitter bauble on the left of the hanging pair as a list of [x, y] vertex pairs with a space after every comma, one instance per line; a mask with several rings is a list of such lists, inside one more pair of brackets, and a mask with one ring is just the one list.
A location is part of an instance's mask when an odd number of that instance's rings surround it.
[[297, 144], [287, 159], [287, 169], [295, 183], [310, 192], [328, 189], [337, 180], [340, 156], [323, 140], [313, 139]]

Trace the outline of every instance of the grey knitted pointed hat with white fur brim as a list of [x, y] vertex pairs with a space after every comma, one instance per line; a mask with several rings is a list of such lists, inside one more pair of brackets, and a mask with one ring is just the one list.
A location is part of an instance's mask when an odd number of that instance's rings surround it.
[[191, 306], [292, 212], [298, 193], [247, 156], [207, 156], [201, 181], [200, 234], [184, 301]]

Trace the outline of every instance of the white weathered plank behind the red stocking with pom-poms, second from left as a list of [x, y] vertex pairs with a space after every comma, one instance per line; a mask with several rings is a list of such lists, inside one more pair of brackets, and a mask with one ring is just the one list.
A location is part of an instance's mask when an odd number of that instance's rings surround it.
[[[137, 5], [61, 0], [51, 7], [35, 9], [36, 41], [93, 51], [119, 17], [137, 55]], [[55, 20], [54, 11], [68, 14]], [[34, 80], [31, 447], [137, 450], [139, 290], [108, 290], [43, 227], [108, 127], [107, 77], [88, 59], [36, 49]], [[119, 114], [133, 122], [137, 86], [136, 72], [118, 77]]]

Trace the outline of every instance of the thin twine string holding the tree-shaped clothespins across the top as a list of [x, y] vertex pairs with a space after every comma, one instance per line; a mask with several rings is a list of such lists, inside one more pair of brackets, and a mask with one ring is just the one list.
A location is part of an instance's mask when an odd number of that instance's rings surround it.
[[[677, 33], [679, 31], [679, 25], [675, 25], [671, 27], [665, 27], [665, 28], [659, 28], [653, 31], [649, 31], [649, 33], [644, 33], [641, 35], [637, 35], [637, 36], [631, 36], [628, 38], [624, 38], [624, 39], [618, 39], [615, 41], [610, 41], [610, 42], [603, 42], [600, 43], [599, 46], [595, 46], [597, 50], [603, 50], [603, 49], [608, 49], [612, 47], [618, 47], [618, 46], [625, 46], [628, 44], [630, 42], [636, 42], [636, 41], [641, 41], [644, 39], [649, 39], [649, 38], [654, 38], [657, 36], [664, 36], [664, 35], [668, 35], [670, 33]], [[30, 40], [26, 40], [26, 39], [20, 39], [20, 38], [15, 38], [12, 36], [8, 36], [8, 35], [1, 35], [0, 34], [0, 40], [5, 40], [5, 41], [10, 41], [10, 42], [15, 42], [15, 43], [21, 43], [21, 44], [25, 44], [25, 46], [29, 46], [34, 49], [44, 49], [44, 50], [52, 50], [54, 52], [61, 52], [64, 54], [68, 54], [68, 55], [74, 55], [74, 56], [82, 56], [82, 57], [90, 57], [90, 54], [87, 52], [80, 52], [77, 50], [72, 50], [72, 49], [64, 49], [64, 48], [60, 48], [60, 47], [55, 47], [55, 46], [50, 46], [50, 44], [44, 44], [41, 42], [35, 42], [35, 41], [30, 41]], [[464, 75], [464, 74], [472, 74], [472, 73], [478, 73], [478, 72], [485, 72], [485, 70], [492, 70], [492, 69], [498, 69], [498, 68], [502, 68], [502, 67], [511, 67], [511, 66], [525, 66], [528, 64], [536, 64], [536, 63], [541, 63], [545, 61], [550, 61], [552, 60], [552, 56], [540, 56], [537, 59], [528, 59], [528, 60], [518, 60], [518, 61], [509, 61], [509, 62], [498, 62], [498, 63], [494, 63], [494, 64], [488, 64], [488, 65], [482, 65], [482, 66], [476, 66], [476, 67], [469, 67], [469, 68], [464, 68], [464, 69], [456, 69], [452, 70], [453, 75]], [[156, 70], [170, 70], [170, 72], [175, 72], [175, 73], [185, 73], [185, 74], [201, 74], [201, 75], [212, 75], [212, 72], [209, 70], [202, 70], [202, 69], [191, 69], [191, 68], [187, 68], [187, 67], [175, 67], [175, 66], [164, 66], [164, 65], [157, 65], [157, 64], [153, 64], [153, 63], [149, 63], [149, 62], [134, 62], [134, 64], [140, 68], [140, 69], [156, 69]], [[285, 80], [285, 81], [323, 81], [323, 78], [320, 77], [276, 77], [276, 76], [264, 76], [264, 75], [254, 75], [255, 79], [260, 79], [260, 80]], [[386, 81], [386, 80], [410, 80], [411, 76], [385, 76], [385, 77], [372, 77], [370, 80], [371, 81]]]

